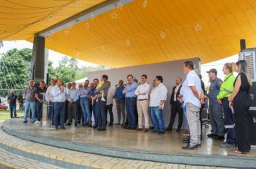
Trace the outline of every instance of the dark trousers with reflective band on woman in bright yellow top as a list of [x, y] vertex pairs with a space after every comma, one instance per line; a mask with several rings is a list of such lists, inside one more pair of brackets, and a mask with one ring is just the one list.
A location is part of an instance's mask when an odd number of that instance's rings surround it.
[[223, 110], [224, 110], [224, 127], [227, 133], [227, 143], [234, 145], [236, 144], [236, 131], [234, 128], [234, 115], [229, 107], [228, 97], [222, 100]]

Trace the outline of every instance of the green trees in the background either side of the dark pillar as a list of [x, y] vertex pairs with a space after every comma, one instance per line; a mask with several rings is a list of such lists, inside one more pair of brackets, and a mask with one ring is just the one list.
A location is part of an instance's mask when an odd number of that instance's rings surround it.
[[[32, 49], [11, 49], [0, 59], [0, 89], [24, 89], [29, 79]], [[88, 72], [102, 70], [103, 66], [78, 68], [78, 60], [63, 57], [58, 67], [48, 61], [49, 79], [62, 79], [64, 83], [87, 77]]]

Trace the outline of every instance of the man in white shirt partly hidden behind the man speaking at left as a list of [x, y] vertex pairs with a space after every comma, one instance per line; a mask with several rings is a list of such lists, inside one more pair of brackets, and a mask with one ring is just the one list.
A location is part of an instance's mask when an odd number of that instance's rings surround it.
[[46, 94], [45, 94], [45, 100], [47, 101], [47, 116], [49, 118], [52, 118], [53, 122], [53, 107], [52, 107], [52, 87], [56, 85], [56, 80], [51, 79], [50, 86], [47, 87]]

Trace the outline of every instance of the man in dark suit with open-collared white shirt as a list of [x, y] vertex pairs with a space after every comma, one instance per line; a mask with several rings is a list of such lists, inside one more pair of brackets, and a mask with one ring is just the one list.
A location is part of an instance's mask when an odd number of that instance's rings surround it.
[[173, 87], [173, 92], [170, 97], [170, 123], [168, 127], [165, 128], [165, 131], [172, 130], [173, 129], [173, 123], [175, 120], [175, 117], [178, 112], [178, 128], [176, 132], [180, 132], [180, 128], [182, 126], [183, 122], [183, 108], [181, 106], [181, 103], [178, 101], [178, 95], [180, 95], [180, 88], [182, 86], [182, 79], [181, 77], [177, 77], [175, 79], [175, 87]]

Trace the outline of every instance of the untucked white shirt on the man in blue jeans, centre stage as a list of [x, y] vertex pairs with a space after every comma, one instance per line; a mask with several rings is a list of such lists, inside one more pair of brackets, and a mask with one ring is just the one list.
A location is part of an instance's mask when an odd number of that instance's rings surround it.
[[[150, 93], [150, 107], [158, 107], [162, 100], [165, 101], [167, 99], [167, 92], [168, 90], [163, 83], [158, 84]], [[162, 109], [164, 106], [165, 103], [163, 102]]]

